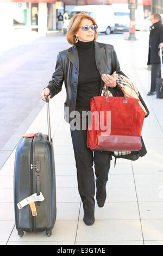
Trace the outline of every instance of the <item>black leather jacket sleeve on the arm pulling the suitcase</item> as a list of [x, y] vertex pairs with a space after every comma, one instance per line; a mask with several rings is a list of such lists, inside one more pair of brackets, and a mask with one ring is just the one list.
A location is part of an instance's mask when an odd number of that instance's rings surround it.
[[64, 71], [62, 68], [60, 53], [58, 53], [57, 63], [55, 66], [55, 71], [52, 76], [52, 80], [49, 81], [49, 84], [46, 87], [50, 90], [51, 98], [57, 95], [61, 91], [63, 82], [64, 82]]

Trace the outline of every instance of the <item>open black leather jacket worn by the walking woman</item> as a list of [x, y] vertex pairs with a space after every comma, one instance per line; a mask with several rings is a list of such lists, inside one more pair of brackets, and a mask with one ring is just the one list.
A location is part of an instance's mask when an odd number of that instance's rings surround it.
[[[109, 74], [116, 70], [120, 70], [120, 64], [118, 62], [114, 47], [109, 44], [95, 43], [95, 60], [99, 73]], [[73, 46], [67, 50], [61, 51], [57, 57], [57, 64], [55, 66], [55, 72], [52, 76], [52, 80], [46, 88], [49, 88], [51, 97], [55, 96], [61, 91], [62, 84], [65, 81], [66, 88], [66, 101], [65, 101], [65, 120], [70, 123], [74, 118], [70, 118], [71, 111], [76, 109], [76, 97], [79, 75], [79, 58], [77, 47]], [[99, 95], [102, 93], [104, 82], [101, 80], [101, 88]]]

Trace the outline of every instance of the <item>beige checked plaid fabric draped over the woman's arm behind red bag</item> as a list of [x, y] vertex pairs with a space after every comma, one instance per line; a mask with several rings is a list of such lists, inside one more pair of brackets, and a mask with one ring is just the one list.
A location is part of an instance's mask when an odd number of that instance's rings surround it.
[[[121, 86], [123, 93], [127, 96], [127, 97], [132, 97], [135, 98], [137, 100], [139, 100], [139, 104], [141, 106], [141, 108], [143, 109], [143, 111], [145, 112], [145, 115], [147, 114], [147, 111], [145, 109], [145, 107], [142, 105], [140, 99], [139, 99], [139, 92], [137, 91], [137, 89], [134, 87], [133, 83], [126, 77], [120, 74], [116, 74], [116, 80], [117, 80], [117, 84], [119, 86]], [[106, 96], [106, 84], [104, 84], [101, 96]], [[108, 90], [108, 95], [109, 96], [113, 96], [112, 93]], [[121, 156], [121, 155], [128, 155], [130, 154], [130, 151], [114, 151], [114, 155], [115, 156]]]

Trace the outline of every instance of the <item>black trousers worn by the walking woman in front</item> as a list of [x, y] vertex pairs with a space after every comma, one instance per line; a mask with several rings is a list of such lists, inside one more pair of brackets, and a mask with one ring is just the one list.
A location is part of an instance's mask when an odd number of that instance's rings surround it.
[[[111, 153], [108, 151], [93, 151], [87, 148], [87, 125], [89, 120], [89, 118], [86, 120], [86, 130], [82, 130], [82, 123], [84, 122], [82, 117], [80, 118], [81, 129], [71, 129], [77, 168], [78, 190], [83, 202], [84, 212], [95, 210], [95, 188], [97, 188], [98, 194], [105, 190], [106, 182], [108, 181], [110, 160], [112, 159]], [[96, 186], [93, 162], [95, 164]]]

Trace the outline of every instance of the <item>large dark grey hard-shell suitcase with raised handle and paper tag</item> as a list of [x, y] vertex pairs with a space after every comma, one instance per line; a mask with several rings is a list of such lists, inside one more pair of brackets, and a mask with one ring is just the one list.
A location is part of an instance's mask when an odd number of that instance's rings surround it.
[[46, 102], [48, 135], [37, 133], [22, 137], [16, 148], [14, 207], [20, 237], [23, 231], [45, 230], [51, 236], [56, 220], [55, 163], [48, 97]]

